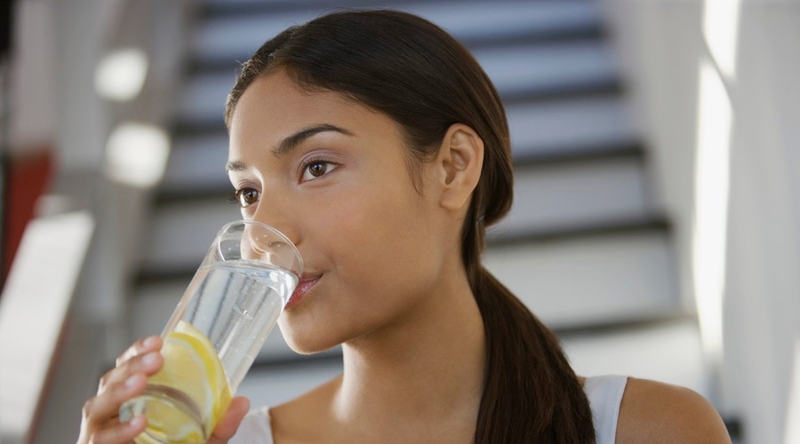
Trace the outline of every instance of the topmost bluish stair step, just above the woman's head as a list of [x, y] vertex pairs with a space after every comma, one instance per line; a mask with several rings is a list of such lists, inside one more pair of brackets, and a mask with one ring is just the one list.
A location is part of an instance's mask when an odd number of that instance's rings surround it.
[[[316, 18], [333, 8], [363, 6], [360, 0], [336, 2], [210, 2], [213, 13], [195, 29], [189, 52], [202, 64], [244, 61], [263, 41], [291, 25]], [[289, 7], [287, 7], [289, 6]], [[371, 7], [399, 9], [433, 21], [466, 44], [498, 39], [548, 38], [596, 32], [600, 12], [595, 2], [498, 1], [492, 3], [388, 1]], [[455, 13], [454, 13], [455, 12]]]

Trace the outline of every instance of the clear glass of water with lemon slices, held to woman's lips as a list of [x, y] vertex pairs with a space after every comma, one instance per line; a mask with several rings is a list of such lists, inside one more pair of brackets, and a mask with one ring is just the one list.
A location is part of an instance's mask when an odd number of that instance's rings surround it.
[[302, 275], [300, 252], [252, 220], [223, 226], [167, 322], [164, 367], [120, 420], [148, 417], [137, 444], [205, 442]]

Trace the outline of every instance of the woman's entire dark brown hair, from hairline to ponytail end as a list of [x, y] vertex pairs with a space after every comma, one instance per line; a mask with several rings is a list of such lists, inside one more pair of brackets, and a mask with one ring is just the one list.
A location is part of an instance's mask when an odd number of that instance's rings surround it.
[[511, 206], [513, 177], [500, 96], [472, 55], [405, 12], [333, 12], [286, 29], [244, 63], [226, 123], [247, 87], [278, 68], [303, 88], [340, 92], [394, 119], [417, 164], [436, 155], [453, 123], [480, 135], [483, 171], [461, 246], [487, 342], [475, 442], [595, 442], [586, 394], [558, 339], [480, 262], [485, 227]]

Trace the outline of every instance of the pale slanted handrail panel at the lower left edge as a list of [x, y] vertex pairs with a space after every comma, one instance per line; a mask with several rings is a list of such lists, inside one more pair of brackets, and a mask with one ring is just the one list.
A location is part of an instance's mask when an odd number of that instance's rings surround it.
[[0, 297], [0, 441], [34, 432], [78, 277], [94, 232], [86, 211], [28, 224]]

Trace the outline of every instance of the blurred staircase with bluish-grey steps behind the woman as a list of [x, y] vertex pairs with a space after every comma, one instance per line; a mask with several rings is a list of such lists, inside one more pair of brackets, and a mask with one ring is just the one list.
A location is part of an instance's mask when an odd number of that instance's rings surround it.
[[[347, 0], [197, 0], [173, 150], [145, 228], [131, 339], [159, 332], [225, 222], [225, 98], [237, 62]], [[669, 221], [592, 0], [379, 1], [467, 44], [507, 106], [516, 201], [486, 266], [564, 341], [582, 375], [650, 377], [709, 395], [697, 320], [678, 295]], [[339, 350], [292, 353], [276, 329], [240, 387], [274, 405], [341, 371]]]

